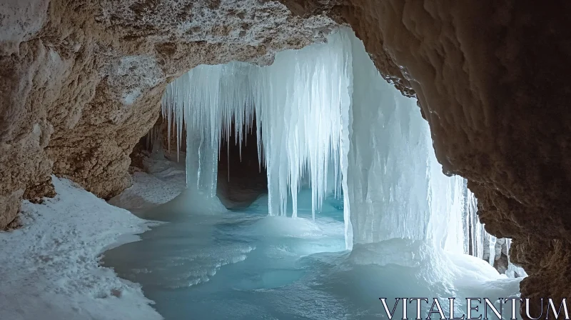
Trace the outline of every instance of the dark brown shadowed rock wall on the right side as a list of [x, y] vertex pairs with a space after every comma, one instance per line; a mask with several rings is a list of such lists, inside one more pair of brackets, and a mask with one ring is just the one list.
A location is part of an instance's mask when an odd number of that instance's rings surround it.
[[[571, 296], [571, 2], [283, 0], [326, 13], [418, 96], [445, 173], [490, 234], [513, 239], [522, 297]], [[410, 90], [403, 90], [410, 93]]]

